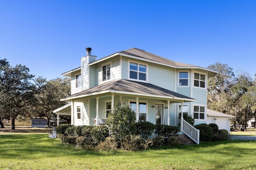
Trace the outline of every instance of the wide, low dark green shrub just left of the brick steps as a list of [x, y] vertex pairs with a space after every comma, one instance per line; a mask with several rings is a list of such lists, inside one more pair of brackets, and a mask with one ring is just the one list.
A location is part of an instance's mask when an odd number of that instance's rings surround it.
[[177, 135], [178, 127], [170, 125], [155, 125], [155, 134], [158, 136], [170, 137]]

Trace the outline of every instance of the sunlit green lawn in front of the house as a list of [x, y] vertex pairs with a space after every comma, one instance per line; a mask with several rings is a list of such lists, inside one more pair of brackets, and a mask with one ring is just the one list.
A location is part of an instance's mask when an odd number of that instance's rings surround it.
[[139, 152], [94, 152], [63, 145], [46, 134], [0, 135], [6, 169], [256, 169], [256, 141], [229, 140]]

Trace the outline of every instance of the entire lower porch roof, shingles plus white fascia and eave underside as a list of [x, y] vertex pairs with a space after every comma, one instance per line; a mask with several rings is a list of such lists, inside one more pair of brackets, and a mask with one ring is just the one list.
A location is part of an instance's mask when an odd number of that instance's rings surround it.
[[112, 93], [122, 96], [170, 100], [171, 103], [195, 101], [193, 98], [172, 92], [153, 84], [123, 79], [106, 82], [99, 86], [62, 98], [61, 101], [87, 101], [89, 98], [110, 96]]

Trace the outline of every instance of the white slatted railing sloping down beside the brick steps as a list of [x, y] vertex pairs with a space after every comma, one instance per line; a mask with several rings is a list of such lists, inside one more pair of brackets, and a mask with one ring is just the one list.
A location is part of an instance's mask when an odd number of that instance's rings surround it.
[[187, 121], [185, 121], [183, 118], [181, 119], [180, 123], [180, 130], [190, 137], [196, 144], [199, 144], [199, 130], [190, 125]]

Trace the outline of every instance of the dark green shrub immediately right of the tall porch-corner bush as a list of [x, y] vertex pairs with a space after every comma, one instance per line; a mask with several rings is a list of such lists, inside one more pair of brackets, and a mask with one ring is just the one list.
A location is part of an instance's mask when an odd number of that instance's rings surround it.
[[139, 121], [135, 123], [136, 135], [140, 135], [144, 139], [147, 139], [154, 132], [155, 125], [149, 121]]

